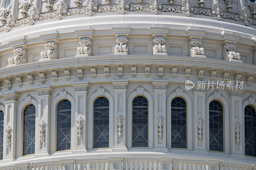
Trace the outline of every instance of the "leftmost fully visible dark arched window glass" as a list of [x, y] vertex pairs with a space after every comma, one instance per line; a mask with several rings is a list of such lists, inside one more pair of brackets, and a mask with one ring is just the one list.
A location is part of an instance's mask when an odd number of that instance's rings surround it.
[[23, 155], [35, 153], [36, 107], [28, 105], [23, 115]]

